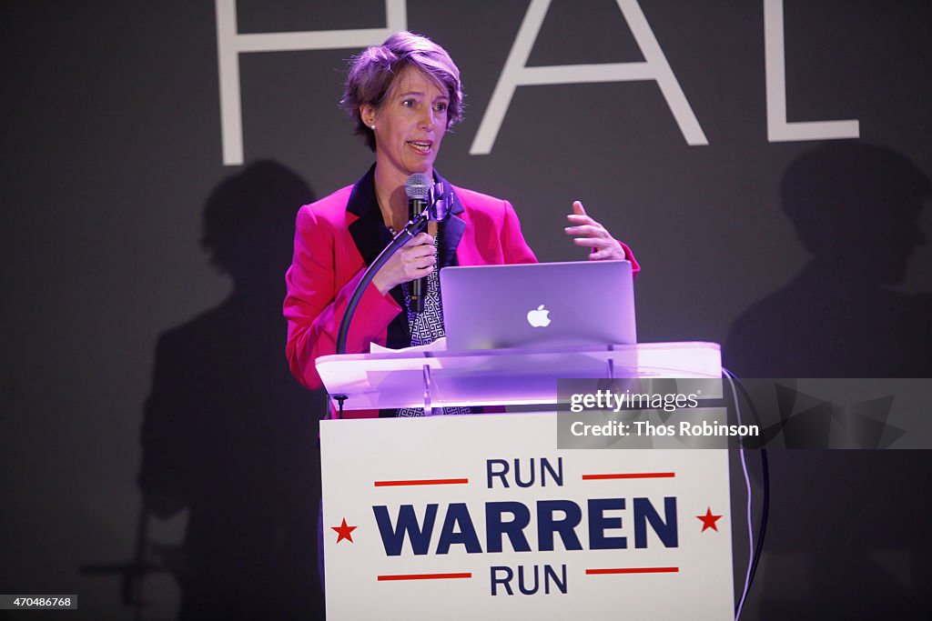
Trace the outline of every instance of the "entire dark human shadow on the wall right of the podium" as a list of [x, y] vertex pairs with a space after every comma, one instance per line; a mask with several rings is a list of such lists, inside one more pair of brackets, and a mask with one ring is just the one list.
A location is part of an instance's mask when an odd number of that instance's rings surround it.
[[[932, 296], [889, 289], [925, 242], [925, 173], [890, 149], [832, 142], [788, 166], [781, 195], [813, 259], [735, 320], [726, 366], [761, 378], [932, 376]], [[928, 454], [770, 452], [751, 618], [929, 618]]]

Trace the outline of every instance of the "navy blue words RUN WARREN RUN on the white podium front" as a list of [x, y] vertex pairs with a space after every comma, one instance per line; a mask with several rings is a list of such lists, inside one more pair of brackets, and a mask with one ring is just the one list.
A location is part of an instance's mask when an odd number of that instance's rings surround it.
[[[487, 489], [514, 490], [515, 496], [533, 487], [562, 487], [564, 485], [563, 458], [540, 459], [488, 459], [486, 461]], [[500, 497], [500, 495], [499, 495]], [[624, 550], [646, 548], [659, 544], [678, 547], [677, 497], [665, 496], [662, 510], [650, 498], [635, 496], [594, 497], [584, 500], [551, 499], [527, 503], [522, 500], [496, 500], [482, 503], [425, 503], [420, 506], [403, 504], [392, 516], [389, 507], [372, 507], [378, 533], [389, 557], [402, 555], [404, 541], [411, 544], [414, 555], [448, 554], [461, 549], [467, 554], [496, 554], [501, 552], [548, 552], [556, 547], [557, 537], [563, 549]], [[479, 523], [485, 523], [485, 533], [476, 530], [475, 512], [481, 512]], [[619, 512], [627, 511], [627, 517]], [[394, 520], [392, 518], [394, 517]], [[583, 537], [580, 526], [586, 521], [588, 528]], [[536, 528], [533, 526], [536, 525]], [[625, 534], [618, 534], [620, 531]], [[656, 537], [649, 537], [649, 530]], [[434, 536], [434, 532], [438, 533]], [[611, 531], [611, 533], [609, 533]], [[633, 535], [633, 542], [629, 541]], [[506, 547], [505, 540], [508, 540]], [[526, 572], [518, 568], [519, 574]], [[492, 595], [513, 593], [509, 582], [512, 568], [491, 567]], [[544, 567], [544, 575], [553, 568]], [[528, 568], [537, 574], [537, 567]], [[566, 592], [566, 567], [563, 580], [555, 580], [555, 587]], [[499, 583], [497, 585], [496, 583]], [[500, 586], [501, 589], [497, 588]], [[520, 585], [519, 585], [520, 587]], [[503, 589], [503, 590], [502, 590]], [[522, 592], [525, 590], [521, 588]]]

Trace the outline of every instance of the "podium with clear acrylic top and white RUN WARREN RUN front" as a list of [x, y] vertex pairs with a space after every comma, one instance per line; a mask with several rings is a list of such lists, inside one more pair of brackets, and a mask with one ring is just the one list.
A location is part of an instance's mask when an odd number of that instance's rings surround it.
[[667, 343], [318, 358], [328, 618], [733, 618], [724, 450], [560, 450], [559, 378], [719, 378]]

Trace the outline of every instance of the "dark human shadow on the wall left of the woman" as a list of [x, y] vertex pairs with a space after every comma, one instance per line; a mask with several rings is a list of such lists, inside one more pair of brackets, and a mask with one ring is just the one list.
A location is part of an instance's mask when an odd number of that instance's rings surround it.
[[202, 243], [233, 279], [220, 305], [158, 339], [144, 406], [147, 511], [190, 509], [180, 619], [323, 618], [317, 576], [322, 398], [284, 357], [284, 273], [308, 184], [273, 161], [221, 182]]

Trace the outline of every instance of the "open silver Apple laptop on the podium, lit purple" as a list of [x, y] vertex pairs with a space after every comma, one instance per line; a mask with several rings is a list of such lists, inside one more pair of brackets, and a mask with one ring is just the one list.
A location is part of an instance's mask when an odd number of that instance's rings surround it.
[[445, 267], [448, 350], [637, 343], [631, 263]]

